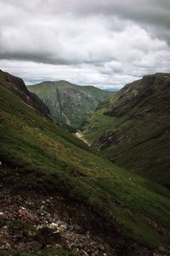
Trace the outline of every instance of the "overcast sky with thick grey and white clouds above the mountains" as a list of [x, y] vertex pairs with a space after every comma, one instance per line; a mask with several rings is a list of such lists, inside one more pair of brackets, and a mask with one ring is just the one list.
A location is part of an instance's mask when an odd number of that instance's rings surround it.
[[170, 72], [170, 0], [0, 0], [0, 69], [122, 88]]

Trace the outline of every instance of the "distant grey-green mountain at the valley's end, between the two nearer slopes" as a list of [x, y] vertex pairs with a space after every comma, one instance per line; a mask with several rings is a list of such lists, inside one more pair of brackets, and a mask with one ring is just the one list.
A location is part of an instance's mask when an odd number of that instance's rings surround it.
[[94, 86], [80, 86], [66, 81], [42, 82], [27, 88], [42, 99], [54, 119], [71, 125], [74, 130], [80, 129], [99, 102], [110, 95], [108, 91]]

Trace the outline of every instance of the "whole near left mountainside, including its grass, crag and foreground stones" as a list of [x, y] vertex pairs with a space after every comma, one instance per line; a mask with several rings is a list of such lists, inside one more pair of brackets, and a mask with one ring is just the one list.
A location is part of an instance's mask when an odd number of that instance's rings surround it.
[[102, 157], [30, 97], [0, 73], [1, 255], [167, 255], [169, 190]]

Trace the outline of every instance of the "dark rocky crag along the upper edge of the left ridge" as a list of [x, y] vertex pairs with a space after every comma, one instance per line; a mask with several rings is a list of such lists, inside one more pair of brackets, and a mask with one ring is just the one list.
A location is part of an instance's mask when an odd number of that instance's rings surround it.
[[0, 70], [0, 84], [20, 96], [20, 99], [32, 108], [37, 109], [42, 116], [49, 117], [50, 113], [48, 107], [35, 94], [27, 90], [26, 84], [22, 79]]

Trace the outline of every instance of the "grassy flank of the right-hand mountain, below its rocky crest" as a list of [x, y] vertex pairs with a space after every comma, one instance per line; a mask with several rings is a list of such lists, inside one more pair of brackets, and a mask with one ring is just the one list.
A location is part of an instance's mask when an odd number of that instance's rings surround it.
[[[157, 102], [161, 102], [161, 107], [153, 103], [156, 102], [155, 98], [150, 105], [143, 106], [142, 103], [145, 104], [145, 102], [140, 102], [142, 108], [137, 105], [116, 117], [105, 114], [113, 108], [114, 97], [111, 98], [113, 102], [107, 102], [104, 107], [101, 106], [88, 119], [87, 124], [83, 127], [82, 136], [92, 146], [99, 148], [102, 144], [101, 137], [104, 136], [105, 140], [109, 141], [110, 135], [107, 135], [107, 132], [116, 131], [112, 143], [105, 144], [105, 148], [101, 148], [100, 153], [118, 166], [169, 187], [170, 119], [167, 99], [157, 99]], [[122, 108], [120, 100], [120, 106], [118, 106], [120, 109], [124, 109], [127, 108], [127, 105], [128, 103]], [[152, 106], [158, 110], [150, 110]], [[137, 119], [131, 118], [135, 113], [144, 113], [144, 116]]]

